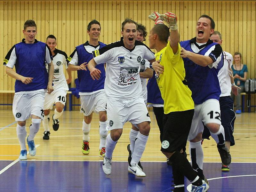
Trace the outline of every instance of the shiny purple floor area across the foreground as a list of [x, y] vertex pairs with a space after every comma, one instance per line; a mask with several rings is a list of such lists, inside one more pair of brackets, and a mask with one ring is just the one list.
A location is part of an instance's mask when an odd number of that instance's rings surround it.
[[[10, 163], [12, 161], [0, 161], [0, 170]], [[127, 162], [113, 162], [112, 173], [109, 176], [103, 173], [101, 164], [102, 162], [82, 161], [19, 161], [0, 173], [0, 192], [171, 190], [172, 167], [166, 163], [142, 162], [147, 175], [145, 178], [128, 173]], [[219, 163], [204, 163], [204, 175], [210, 182], [208, 192], [254, 192], [255, 174], [255, 163], [233, 163], [230, 165], [230, 172], [221, 172]], [[189, 183], [186, 180], [185, 185], [187, 184]]]

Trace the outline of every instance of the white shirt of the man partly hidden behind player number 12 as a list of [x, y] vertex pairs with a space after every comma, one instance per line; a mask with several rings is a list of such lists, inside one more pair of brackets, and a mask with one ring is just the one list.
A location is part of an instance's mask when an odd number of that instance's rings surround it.
[[230, 96], [231, 82], [228, 70], [231, 68], [233, 63], [233, 57], [230, 53], [223, 51], [224, 63], [223, 67], [220, 68], [218, 73], [218, 79], [220, 82], [220, 97]]

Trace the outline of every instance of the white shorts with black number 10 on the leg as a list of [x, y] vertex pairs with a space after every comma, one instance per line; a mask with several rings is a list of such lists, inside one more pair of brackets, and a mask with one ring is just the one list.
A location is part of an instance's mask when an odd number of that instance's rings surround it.
[[67, 91], [64, 89], [60, 90], [55, 90], [52, 93], [45, 93], [45, 98], [44, 98], [44, 110], [46, 109], [52, 109], [53, 104], [60, 102], [63, 105], [66, 103], [66, 95]]

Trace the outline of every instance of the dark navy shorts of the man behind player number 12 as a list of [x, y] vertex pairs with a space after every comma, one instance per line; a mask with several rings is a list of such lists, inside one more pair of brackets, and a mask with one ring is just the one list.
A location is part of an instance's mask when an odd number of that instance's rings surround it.
[[[236, 113], [233, 108], [234, 102], [230, 96], [220, 97], [220, 119], [224, 127], [225, 140], [230, 141], [230, 146], [235, 145], [233, 136]], [[211, 133], [204, 125], [203, 139], [209, 139]]]

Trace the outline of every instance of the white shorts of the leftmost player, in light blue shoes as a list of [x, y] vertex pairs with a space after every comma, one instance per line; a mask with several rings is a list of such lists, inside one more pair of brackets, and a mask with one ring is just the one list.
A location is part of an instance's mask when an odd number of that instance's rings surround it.
[[15, 121], [25, 121], [31, 115], [44, 119], [45, 92], [15, 94], [12, 103], [12, 114]]

